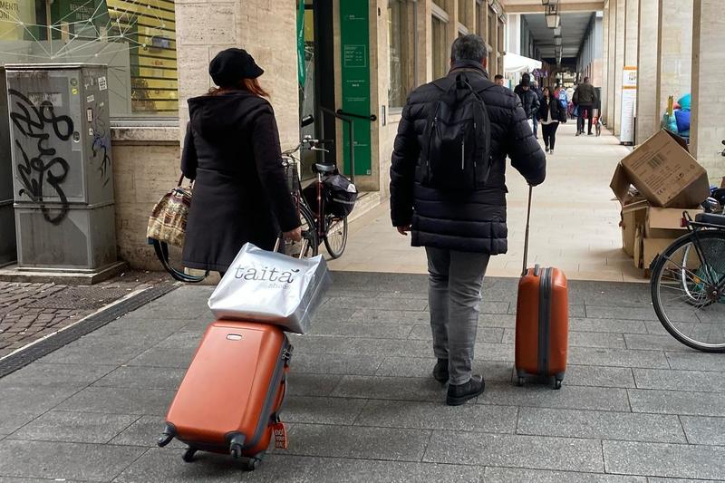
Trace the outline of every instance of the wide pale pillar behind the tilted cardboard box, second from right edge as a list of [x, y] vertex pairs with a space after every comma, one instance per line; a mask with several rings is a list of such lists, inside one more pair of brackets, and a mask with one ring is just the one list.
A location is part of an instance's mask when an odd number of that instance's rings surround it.
[[[667, 108], [667, 98], [675, 100], [691, 86], [693, 0], [659, 0], [657, 72], [658, 123]], [[720, 45], [721, 48], [721, 45]], [[721, 75], [721, 73], [720, 73]]]

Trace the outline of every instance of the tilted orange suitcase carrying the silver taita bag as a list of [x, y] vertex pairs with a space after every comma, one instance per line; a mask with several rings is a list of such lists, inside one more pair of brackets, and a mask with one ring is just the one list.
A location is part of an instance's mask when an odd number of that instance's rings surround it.
[[256, 469], [275, 441], [284, 447], [279, 411], [285, 399], [292, 345], [269, 324], [210, 324], [166, 416], [159, 446], [176, 438], [198, 450], [244, 458]]

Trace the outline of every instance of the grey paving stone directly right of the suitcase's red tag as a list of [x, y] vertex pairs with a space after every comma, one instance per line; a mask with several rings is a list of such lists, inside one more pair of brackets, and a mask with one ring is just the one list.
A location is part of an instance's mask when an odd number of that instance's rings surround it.
[[429, 430], [290, 424], [288, 454], [339, 458], [420, 461], [430, 440]]

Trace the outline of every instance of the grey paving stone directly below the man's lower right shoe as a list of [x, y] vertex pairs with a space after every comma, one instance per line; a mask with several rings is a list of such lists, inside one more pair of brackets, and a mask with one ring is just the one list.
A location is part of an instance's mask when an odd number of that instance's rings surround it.
[[513, 433], [517, 411], [516, 406], [465, 404], [453, 407], [440, 402], [368, 401], [355, 425]]

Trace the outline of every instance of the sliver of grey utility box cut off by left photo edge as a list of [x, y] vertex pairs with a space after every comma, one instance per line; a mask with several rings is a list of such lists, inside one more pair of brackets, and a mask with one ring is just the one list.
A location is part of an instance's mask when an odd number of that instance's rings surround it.
[[0, 67], [0, 266], [17, 260], [13, 215], [13, 164], [7, 129], [5, 69]]

